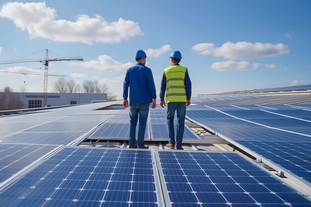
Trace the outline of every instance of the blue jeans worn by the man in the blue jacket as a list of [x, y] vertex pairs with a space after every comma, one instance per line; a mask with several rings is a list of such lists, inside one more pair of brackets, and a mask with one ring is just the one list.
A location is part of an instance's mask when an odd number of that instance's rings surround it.
[[149, 113], [149, 102], [130, 102], [130, 138], [129, 144], [134, 145], [136, 141], [136, 125], [139, 117], [139, 129], [137, 145], [144, 146], [146, 124]]

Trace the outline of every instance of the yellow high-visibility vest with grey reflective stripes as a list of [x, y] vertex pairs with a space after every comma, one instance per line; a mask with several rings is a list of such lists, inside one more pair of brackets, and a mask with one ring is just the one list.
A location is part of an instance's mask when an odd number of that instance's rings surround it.
[[164, 69], [166, 77], [166, 103], [187, 102], [185, 74], [187, 68], [175, 65]]

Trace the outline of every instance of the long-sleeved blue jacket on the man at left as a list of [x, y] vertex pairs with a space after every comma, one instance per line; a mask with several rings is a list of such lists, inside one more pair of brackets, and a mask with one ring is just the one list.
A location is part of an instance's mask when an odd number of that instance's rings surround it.
[[142, 63], [127, 69], [123, 82], [123, 99], [128, 98], [130, 86], [130, 101], [153, 102], [156, 98], [156, 86], [152, 71]]

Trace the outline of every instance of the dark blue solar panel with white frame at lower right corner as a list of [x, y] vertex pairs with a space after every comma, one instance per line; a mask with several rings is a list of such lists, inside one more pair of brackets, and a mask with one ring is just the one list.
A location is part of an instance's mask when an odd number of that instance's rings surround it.
[[236, 145], [249, 154], [311, 192], [311, 146], [309, 142], [245, 141], [235, 140]]

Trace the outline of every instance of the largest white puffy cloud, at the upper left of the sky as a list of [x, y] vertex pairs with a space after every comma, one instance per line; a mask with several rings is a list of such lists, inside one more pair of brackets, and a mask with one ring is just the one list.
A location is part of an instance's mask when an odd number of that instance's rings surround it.
[[59, 42], [118, 43], [142, 35], [138, 22], [124, 20], [107, 22], [100, 15], [94, 18], [78, 15], [77, 21], [55, 20], [56, 10], [43, 2], [7, 2], [0, 10], [0, 17], [14, 22], [16, 27], [27, 30], [31, 38], [41, 37]]

